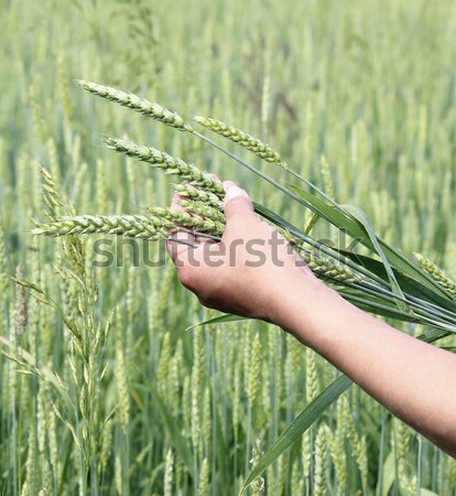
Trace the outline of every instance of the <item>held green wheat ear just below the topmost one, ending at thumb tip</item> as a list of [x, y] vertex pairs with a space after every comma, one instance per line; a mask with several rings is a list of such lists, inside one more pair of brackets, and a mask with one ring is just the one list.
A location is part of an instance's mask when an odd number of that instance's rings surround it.
[[137, 144], [120, 138], [105, 137], [104, 141], [110, 149], [116, 150], [119, 153], [124, 153], [127, 157], [135, 158], [141, 162], [146, 162], [160, 168], [165, 174], [178, 175], [191, 181], [193, 185], [204, 187], [220, 197], [225, 195], [224, 186], [220, 181], [213, 179], [207, 172], [200, 171], [193, 163], [184, 162], [178, 157], [172, 157], [153, 147]]

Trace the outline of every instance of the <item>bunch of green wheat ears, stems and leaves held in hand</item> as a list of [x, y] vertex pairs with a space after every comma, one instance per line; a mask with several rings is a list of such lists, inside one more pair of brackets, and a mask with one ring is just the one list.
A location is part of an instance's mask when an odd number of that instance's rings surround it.
[[[256, 212], [293, 242], [294, 249], [317, 277], [333, 284], [347, 300], [372, 313], [427, 324], [444, 333], [456, 332], [456, 283], [424, 256], [415, 254], [414, 260], [410, 260], [389, 246], [373, 233], [361, 211], [338, 205], [314, 184], [289, 169], [278, 151], [269, 144], [219, 120], [194, 117], [195, 122], [209, 131], [250, 150], [270, 164], [282, 168], [285, 173], [304, 183], [307, 190], [291, 184], [284, 186], [275, 182], [262, 171], [199, 133], [178, 114], [156, 103], [86, 80], [78, 80], [77, 84], [94, 95], [203, 139], [279, 188], [303, 208], [310, 208], [314, 213], [311, 224], [324, 218], [359, 239], [372, 251], [373, 257], [343, 251], [317, 241], [308, 234], [312, 226], [307, 228], [294, 226], [265, 206], [254, 204]], [[104, 233], [180, 242], [174, 234], [184, 229], [199, 236], [219, 239], [225, 228], [222, 213], [225, 193], [220, 181], [194, 164], [153, 147], [108, 137], [105, 137], [104, 141], [118, 153], [145, 162], [165, 174], [183, 180], [174, 186], [174, 190], [183, 198], [180, 205], [184, 211], [150, 207], [148, 213], [141, 215], [62, 216], [45, 224], [36, 223], [34, 234], [63, 236]]]

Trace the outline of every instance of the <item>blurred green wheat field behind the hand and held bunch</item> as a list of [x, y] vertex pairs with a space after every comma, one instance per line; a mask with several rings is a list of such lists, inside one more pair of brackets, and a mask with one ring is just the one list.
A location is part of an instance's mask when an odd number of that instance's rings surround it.
[[[163, 245], [44, 239], [32, 219], [170, 204], [173, 177], [113, 153], [105, 134], [235, 180], [296, 223], [308, 216], [206, 143], [74, 80], [262, 137], [339, 203], [360, 206], [388, 241], [455, 277], [456, 4], [0, 7], [0, 494], [238, 494], [338, 371], [262, 322], [186, 331], [214, 312], [180, 285]], [[99, 242], [109, 263], [94, 263]], [[351, 386], [247, 494], [450, 496], [456, 462]]]

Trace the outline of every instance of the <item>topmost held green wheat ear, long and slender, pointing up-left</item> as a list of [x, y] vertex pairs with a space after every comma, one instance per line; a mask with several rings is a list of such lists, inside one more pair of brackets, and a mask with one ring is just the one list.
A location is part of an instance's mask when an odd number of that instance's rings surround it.
[[142, 114], [143, 116], [152, 117], [152, 119], [163, 122], [166, 126], [178, 129], [180, 131], [193, 132], [192, 126], [184, 122], [184, 119], [176, 112], [162, 107], [156, 103], [141, 98], [132, 93], [122, 91], [121, 89], [111, 88], [110, 86], [98, 85], [88, 80], [76, 79], [78, 84], [86, 91], [97, 95], [110, 101], [116, 101], [122, 107], [131, 108], [132, 110]]

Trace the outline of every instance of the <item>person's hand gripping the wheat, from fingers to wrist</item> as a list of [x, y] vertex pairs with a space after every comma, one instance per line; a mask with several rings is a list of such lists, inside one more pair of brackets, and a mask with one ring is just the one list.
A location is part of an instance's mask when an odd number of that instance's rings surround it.
[[[280, 325], [279, 303], [294, 281], [322, 283], [291, 245], [258, 218], [243, 190], [231, 181], [224, 187], [226, 229], [220, 242], [183, 231], [174, 237], [197, 248], [169, 241], [178, 278], [205, 306]], [[178, 200], [173, 198], [173, 207], [180, 208]]]

